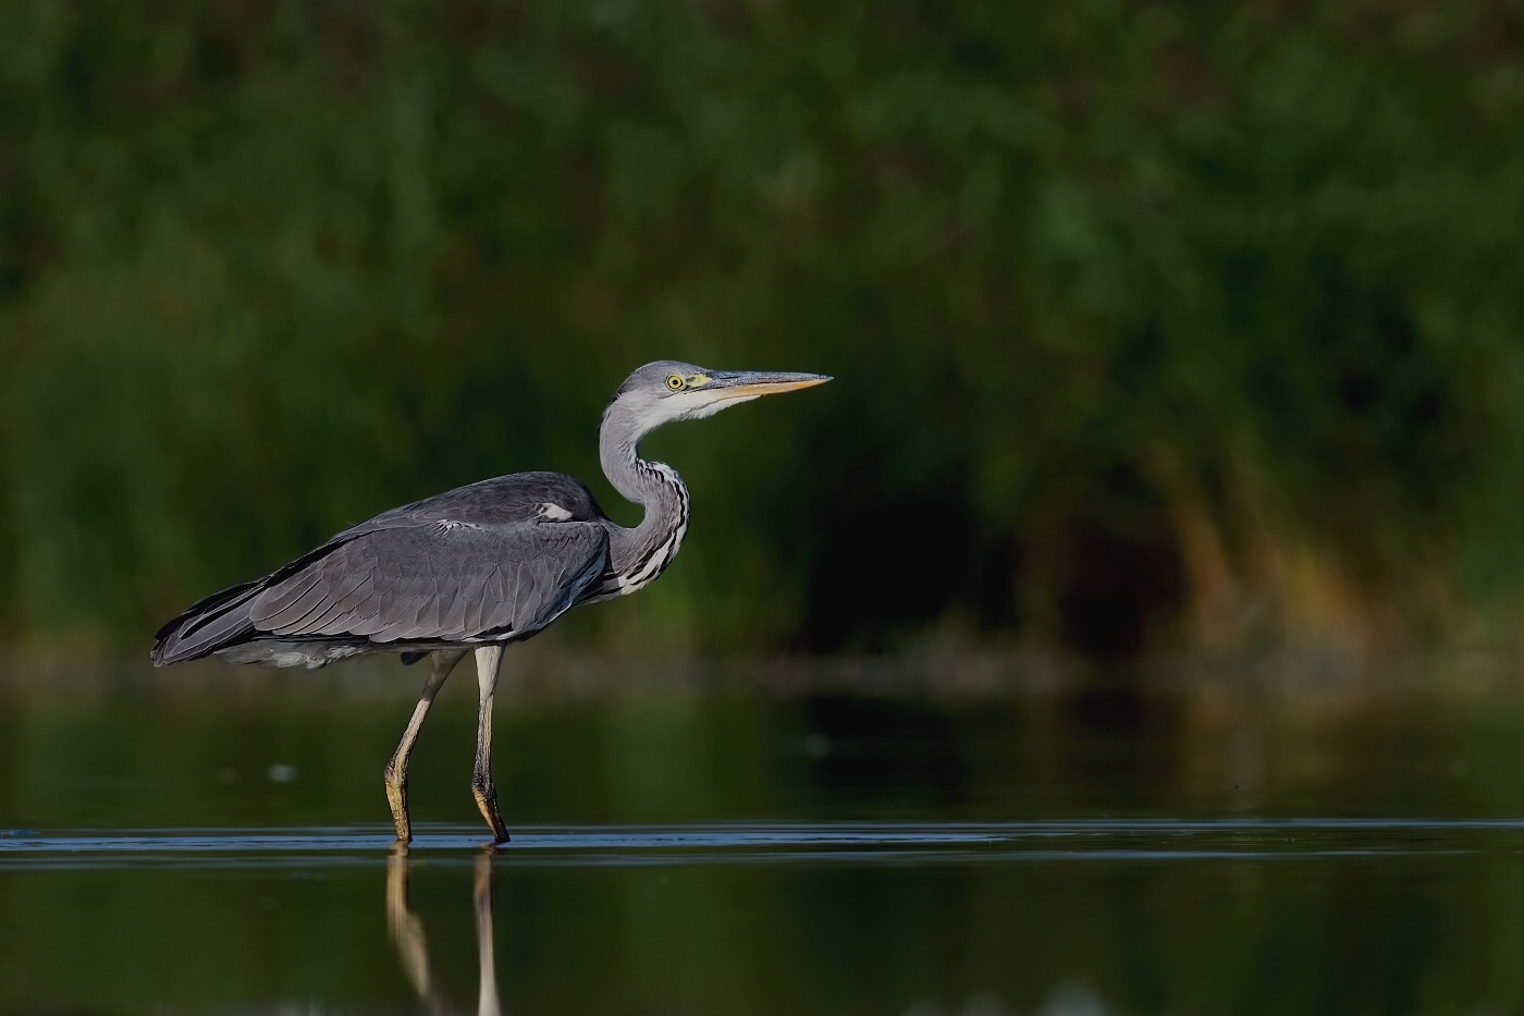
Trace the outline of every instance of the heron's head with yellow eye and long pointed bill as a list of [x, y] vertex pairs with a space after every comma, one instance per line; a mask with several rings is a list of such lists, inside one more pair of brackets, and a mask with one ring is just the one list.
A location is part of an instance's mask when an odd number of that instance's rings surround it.
[[657, 360], [625, 378], [614, 394], [616, 406], [629, 412], [645, 432], [677, 420], [701, 420], [721, 409], [764, 395], [824, 384], [824, 374], [779, 374], [771, 371], [709, 371], [678, 360]]

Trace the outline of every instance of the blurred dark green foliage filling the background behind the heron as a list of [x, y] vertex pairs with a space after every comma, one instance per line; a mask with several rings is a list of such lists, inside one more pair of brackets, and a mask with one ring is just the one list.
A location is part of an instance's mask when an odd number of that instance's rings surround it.
[[683, 357], [838, 381], [649, 442], [695, 525], [576, 622], [613, 644], [1498, 633], [1521, 40], [1504, 0], [3, 5], [0, 624], [140, 642], [524, 468], [629, 520], [597, 415]]

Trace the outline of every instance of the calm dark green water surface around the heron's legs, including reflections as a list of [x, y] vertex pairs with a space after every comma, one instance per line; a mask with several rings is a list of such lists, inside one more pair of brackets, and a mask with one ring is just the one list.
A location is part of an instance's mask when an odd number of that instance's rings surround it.
[[0, 683], [0, 1013], [1524, 1011], [1510, 694], [419, 677]]

